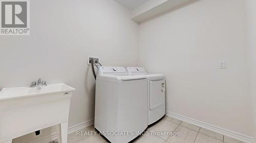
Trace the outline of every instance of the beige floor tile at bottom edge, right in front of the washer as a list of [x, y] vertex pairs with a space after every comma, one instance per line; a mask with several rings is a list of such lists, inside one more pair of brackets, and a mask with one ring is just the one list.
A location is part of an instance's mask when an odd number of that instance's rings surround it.
[[155, 136], [155, 135], [151, 135], [149, 132], [147, 132], [146, 134], [144, 134], [142, 137], [140, 137], [136, 143], [164, 143], [165, 140], [163, 140], [162, 138]]

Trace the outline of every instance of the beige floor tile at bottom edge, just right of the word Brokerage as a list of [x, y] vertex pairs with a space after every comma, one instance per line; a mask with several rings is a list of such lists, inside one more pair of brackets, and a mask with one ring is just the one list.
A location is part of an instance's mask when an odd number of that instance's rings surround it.
[[170, 143], [193, 143], [197, 137], [197, 133], [194, 130], [179, 126], [175, 132], [179, 132], [179, 136], [169, 136], [167, 139]]

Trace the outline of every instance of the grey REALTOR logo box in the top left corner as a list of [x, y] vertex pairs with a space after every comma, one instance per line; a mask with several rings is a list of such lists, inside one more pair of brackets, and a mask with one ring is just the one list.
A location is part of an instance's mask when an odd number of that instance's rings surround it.
[[0, 0], [1, 35], [29, 35], [29, 0]]

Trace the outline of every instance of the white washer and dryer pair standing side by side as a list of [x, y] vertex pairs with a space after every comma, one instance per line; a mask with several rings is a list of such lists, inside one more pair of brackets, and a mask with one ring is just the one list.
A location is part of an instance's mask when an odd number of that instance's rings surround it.
[[94, 127], [112, 143], [139, 136], [165, 115], [165, 78], [142, 67], [99, 67]]

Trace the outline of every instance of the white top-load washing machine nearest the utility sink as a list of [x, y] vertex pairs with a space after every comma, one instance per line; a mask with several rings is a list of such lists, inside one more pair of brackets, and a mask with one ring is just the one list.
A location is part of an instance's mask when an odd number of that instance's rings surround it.
[[126, 143], [147, 128], [147, 78], [123, 67], [99, 67], [94, 127], [110, 142]]

